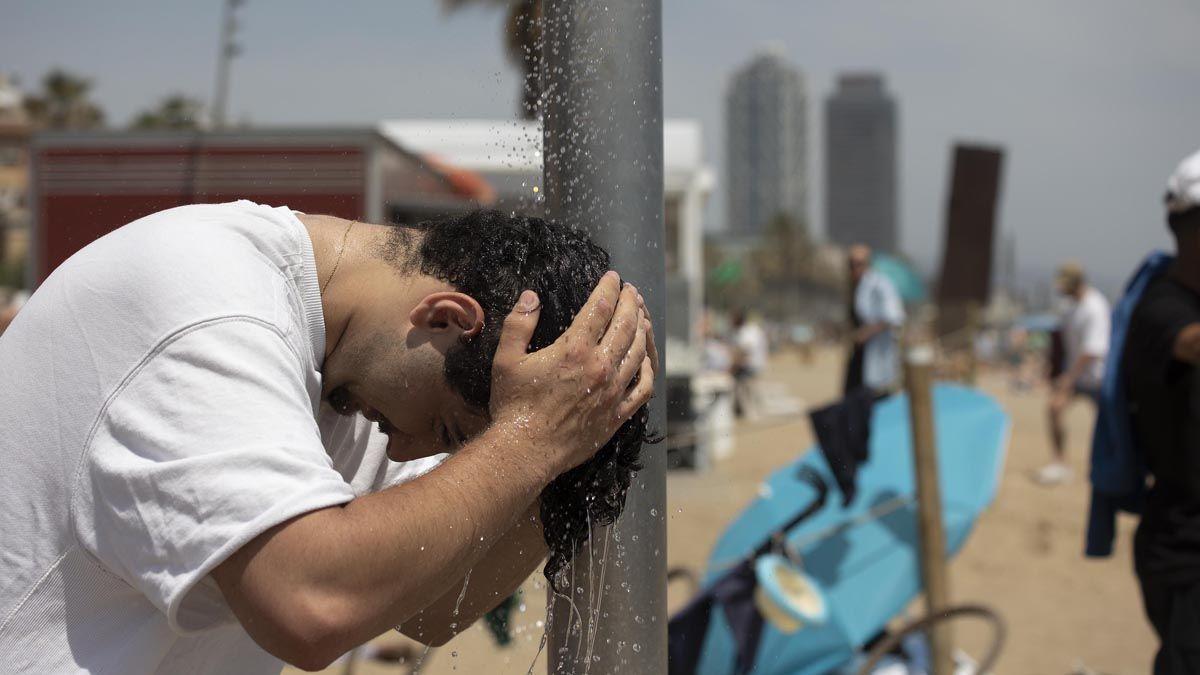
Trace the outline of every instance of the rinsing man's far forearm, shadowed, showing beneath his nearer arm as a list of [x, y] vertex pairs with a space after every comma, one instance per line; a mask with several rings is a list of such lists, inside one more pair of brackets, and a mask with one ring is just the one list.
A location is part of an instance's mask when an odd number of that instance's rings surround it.
[[[487, 551], [462, 583], [406, 621], [401, 631], [414, 640], [442, 645], [491, 611], [524, 583], [546, 558], [538, 502]], [[466, 593], [463, 592], [466, 585]]]

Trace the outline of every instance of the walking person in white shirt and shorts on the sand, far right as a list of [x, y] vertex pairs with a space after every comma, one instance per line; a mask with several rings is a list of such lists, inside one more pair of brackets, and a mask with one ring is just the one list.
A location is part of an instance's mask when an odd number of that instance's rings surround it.
[[1051, 383], [1046, 406], [1054, 458], [1033, 473], [1033, 479], [1043, 485], [1057, 485], [1070, 479], [1067, 430], [1062, 418], [1075, 399], [1097, 401], [1104, 380], [1112, 321], [1109, 301], [1087, 283], [1084, 268], [1078, 263], [1060, 267], [1056, 285], [1068, 303], [1061, 323], [1066, 359], [1063, 372]]

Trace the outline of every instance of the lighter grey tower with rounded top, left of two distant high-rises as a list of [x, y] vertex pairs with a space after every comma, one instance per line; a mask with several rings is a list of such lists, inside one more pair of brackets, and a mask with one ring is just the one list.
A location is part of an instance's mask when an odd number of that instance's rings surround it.
[[786, 214], [805, 220], [804, 82], [772, 48], [734, 73], [725, 101], [728, 229], [762, 234]]

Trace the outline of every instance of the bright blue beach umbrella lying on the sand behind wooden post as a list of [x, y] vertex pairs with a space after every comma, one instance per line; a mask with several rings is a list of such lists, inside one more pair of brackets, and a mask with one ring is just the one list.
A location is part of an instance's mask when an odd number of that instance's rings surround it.
[[[842, 506], [840, 500], [827, 500], [821, 510], [788, 531], [787, 546], [818, 586], [827, 620], [794, 633], [768, 622], [757, 646], [756, 675], [826, 675], [846, 665], [920, 592], [907, 408], [904, 395], [876, 405], [870, 458], [858, 472], [853, 501]], [[953, 556], [996, 496], [1009, 418], [992, 398], [950, 384], [935, 387], [934, 417], [946, 552]], [[816, 449], [773, 473], [713, 549], [706, 584], [745, 561], [811, 502], [815, 489], [803, 479], [802, 467], [834, 484]], [[733, 634], [724, 613], [714, 611], [697, 673], [734, 673]]]

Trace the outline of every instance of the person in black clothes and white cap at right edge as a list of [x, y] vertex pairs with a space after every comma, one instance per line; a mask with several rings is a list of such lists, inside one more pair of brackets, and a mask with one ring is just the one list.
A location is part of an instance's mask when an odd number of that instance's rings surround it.
[[1153, 476], [1134, 538], [1154, 675], [1200, 673], [1200, 153], [1168, 181], [1176, 258], [1138, 301], [1123, 350], [1134, 446]]

